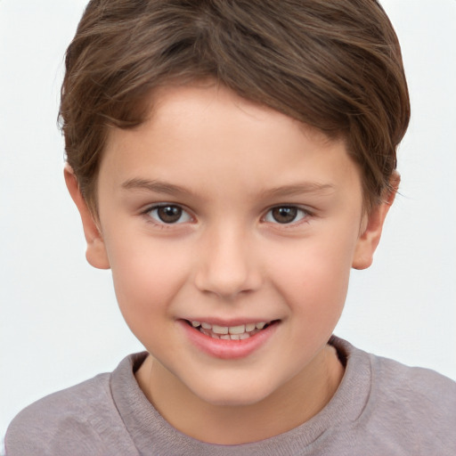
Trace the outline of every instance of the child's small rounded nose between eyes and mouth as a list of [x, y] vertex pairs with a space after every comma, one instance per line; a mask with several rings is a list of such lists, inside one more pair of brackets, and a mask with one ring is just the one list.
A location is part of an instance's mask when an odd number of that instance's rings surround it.
[[217, 297], [232, 299], [255, 291], [262, 283], [254, 243], [239, 229], [205, 233], [197, 263], [196, 287]]

